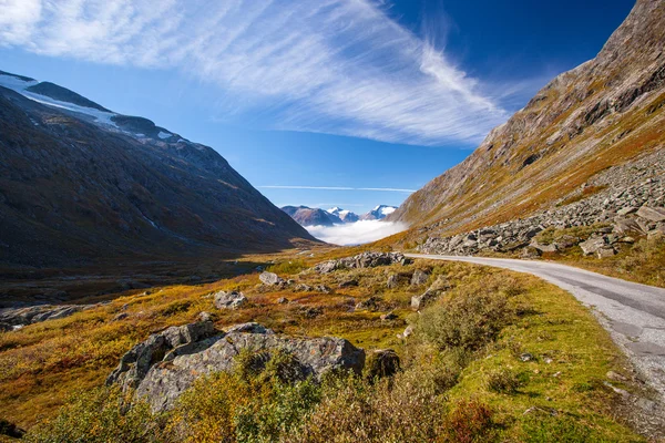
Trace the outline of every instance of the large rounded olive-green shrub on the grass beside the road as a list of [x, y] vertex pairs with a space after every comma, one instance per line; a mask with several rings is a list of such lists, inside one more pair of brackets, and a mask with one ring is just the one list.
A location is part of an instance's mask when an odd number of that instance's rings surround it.
[[477, 350], [494, 340], [513, 315], [504, 295], [461, 293], [426, 309], [419, 327], [424, 339], [440, 349]]

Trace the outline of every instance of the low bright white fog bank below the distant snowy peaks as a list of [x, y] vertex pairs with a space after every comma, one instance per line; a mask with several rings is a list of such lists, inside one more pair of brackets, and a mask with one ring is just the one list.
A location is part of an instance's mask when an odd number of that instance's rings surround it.
[[402, 223], [381, 220], [362, 220], [347, 225], [307, 226], [306, 229], [316, 238], [332, 245], [351, 246], [380, 240], [406, 230]]

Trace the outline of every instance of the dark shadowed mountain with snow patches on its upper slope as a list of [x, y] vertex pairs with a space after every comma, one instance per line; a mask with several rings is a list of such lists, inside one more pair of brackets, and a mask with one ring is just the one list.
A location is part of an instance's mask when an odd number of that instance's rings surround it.
[[0, 72], [0, 262], [205, 260], [303, 239], [213, 148]]

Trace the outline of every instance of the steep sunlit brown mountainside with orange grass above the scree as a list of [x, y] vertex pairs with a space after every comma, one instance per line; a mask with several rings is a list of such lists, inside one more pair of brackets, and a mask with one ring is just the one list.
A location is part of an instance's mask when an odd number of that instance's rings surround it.
[[598, 55], [559, 75], [389, 219], [461, 231], [523, 217], [665, 142], [665, 2], [638, 0]]

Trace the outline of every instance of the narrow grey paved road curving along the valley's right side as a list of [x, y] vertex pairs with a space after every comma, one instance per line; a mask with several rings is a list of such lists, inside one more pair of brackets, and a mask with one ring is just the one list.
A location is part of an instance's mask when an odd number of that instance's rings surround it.
[[406, 254], [410, 258], [466, 261], [540, 277], [592, 308], [665, 400], [665, 289], [549, 261]]

